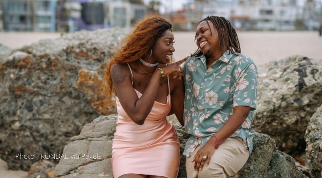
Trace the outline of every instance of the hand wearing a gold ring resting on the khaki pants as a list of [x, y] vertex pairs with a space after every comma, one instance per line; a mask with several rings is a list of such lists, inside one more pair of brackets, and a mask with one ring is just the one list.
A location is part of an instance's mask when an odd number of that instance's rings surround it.
[[208, 166], [210, 158], [214, 152], [215, 145], [208, 141], [203, 147], [201, 147], [197, 151], [197, 153], [194, 155], [194, 158], [191, 161], [194, 162], [194, 170], [201, 171], [205, 163], [206, 166]]

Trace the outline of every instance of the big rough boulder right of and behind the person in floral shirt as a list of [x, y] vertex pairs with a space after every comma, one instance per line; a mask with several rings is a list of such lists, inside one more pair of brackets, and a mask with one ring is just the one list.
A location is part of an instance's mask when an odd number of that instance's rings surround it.
[[255, 130], [270, 135], [277, 148], [300, 155], [310, 116], [322, 104], [322, 64], [303, 56], [268, 63], [258, 77]]

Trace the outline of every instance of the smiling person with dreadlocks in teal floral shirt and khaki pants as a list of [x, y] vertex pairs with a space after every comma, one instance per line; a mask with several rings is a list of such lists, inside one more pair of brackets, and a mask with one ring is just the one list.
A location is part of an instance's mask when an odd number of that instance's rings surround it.
[[236, 174], [252, 151], [257, 69], [241, 54], [235, 29], [208, 16], [196, 29], [198, 50], [185, 62], [184, 155], [188, 178]]

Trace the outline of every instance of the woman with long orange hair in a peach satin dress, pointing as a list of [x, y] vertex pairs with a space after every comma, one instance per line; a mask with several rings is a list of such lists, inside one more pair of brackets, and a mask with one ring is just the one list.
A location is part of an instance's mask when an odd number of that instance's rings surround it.
[[112, 145], [115, 178], [175, 178], [179, 142], [166, 116], [183, 125], [184, 60], [175, 51], [172, 25], [160, 17], [140, 21], [105, 69], [105, 90], [115, 92], [118, 121]]

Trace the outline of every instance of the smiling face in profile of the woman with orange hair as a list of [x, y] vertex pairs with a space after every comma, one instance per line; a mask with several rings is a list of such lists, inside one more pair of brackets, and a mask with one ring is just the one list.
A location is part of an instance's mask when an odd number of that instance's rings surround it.
[[151, 58], [155, 62], [166, 64], [171, 60], [171, 56], [175, 51], [173, 47], [174, 36], [170, 30], [166, 30], [164, 35], [156, 40], [156, 44], [152, 48]]

